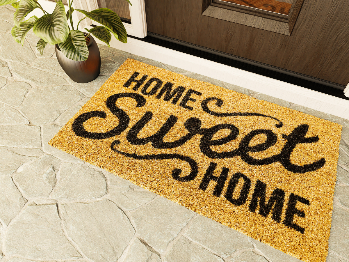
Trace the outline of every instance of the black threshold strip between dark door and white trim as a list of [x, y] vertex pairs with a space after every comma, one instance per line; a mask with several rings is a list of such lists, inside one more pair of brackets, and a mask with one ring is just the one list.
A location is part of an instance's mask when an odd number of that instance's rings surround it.
[[194, 45], [170, 37], [154, 34], [152, 32], [147, 32], [147, 36], [144, 38], [138, 38], [131, 35], [127, 36], [182, 53], [191, 54], [193, 56], [204, 58], [223, 65], [239, 68], [248, 72], [263, 75], [265, 77], [273, 78], [293, 85], [305, 87], [317, 92], [349, 100], [349, 97], [346, 97], [344, 95], [344, 85], [310, 77], [308, 75], [292, 72], [283, 68], [270, 66], [242, 57], [233, 56], [228, 53], [223, 53], [213, 49], [205, 48], [203, 46]]

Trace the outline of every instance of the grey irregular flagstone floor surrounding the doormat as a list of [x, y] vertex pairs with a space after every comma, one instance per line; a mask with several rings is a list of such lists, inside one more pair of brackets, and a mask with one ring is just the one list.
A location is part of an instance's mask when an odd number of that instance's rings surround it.
[[299, 261], [89, 165], [47, 142], [127, 59], [171, 70], [343, 125], [327, 262], [349, 261], [349, 121], [100, 46], [101, 75], [70, 80], [54, 47], [23, 47], [0, 8], [0, 261]]

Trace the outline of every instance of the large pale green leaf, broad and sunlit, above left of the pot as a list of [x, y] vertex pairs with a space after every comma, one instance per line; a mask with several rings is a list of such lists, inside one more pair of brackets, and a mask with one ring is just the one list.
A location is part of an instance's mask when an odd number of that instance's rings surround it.
[[66, 41], [69, 28], [62, 1], [57, 1], [52, 15], [44, 15], [35, 22], [33, 32], [50, 45]]

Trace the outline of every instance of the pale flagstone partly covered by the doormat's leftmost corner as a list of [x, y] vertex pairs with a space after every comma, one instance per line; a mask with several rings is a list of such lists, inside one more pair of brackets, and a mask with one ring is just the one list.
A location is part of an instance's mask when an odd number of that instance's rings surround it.
[[68, 161], [68, 162], [77, 162], [77, 163], [83, 163], [83, 161], [77, 157], [74, 157], [74, 155], [68, 154], [64, 151], [61, 151], [53, 146], [49, 145], [49, 141], [52, 137], [54, 137], [55, 134], [58, 133], [58, 131], [62, 127], [59, 125], [44, 125], [43, 127], [43, 147], [45, 152], [52, 154], [55, 157], [58, 157], [62, 160]]

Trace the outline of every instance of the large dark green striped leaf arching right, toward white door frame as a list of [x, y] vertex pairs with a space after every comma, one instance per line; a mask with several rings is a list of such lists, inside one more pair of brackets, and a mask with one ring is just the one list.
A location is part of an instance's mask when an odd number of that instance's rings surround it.
[[91, 12], [86, 12], [81, 9], [75, 10], [83, 13], [94, 21], [103, 24], [103, 26], [112, 32], [116, 39], [122, 43], [127, 43], [127, 33], [124, 24], [122, 24], [120, 17], [112, 10], [108, 8], [98, 8]]

